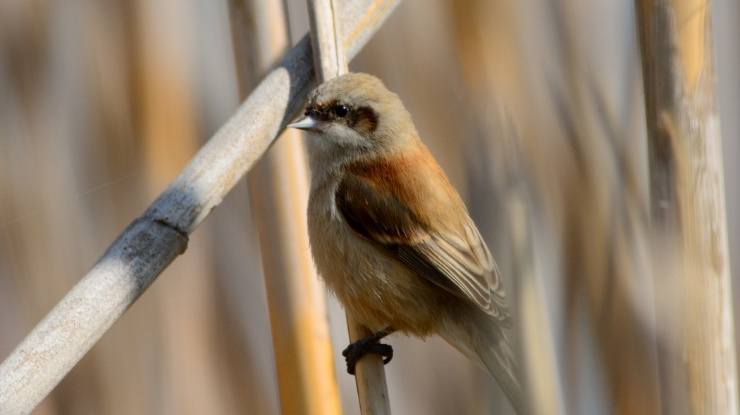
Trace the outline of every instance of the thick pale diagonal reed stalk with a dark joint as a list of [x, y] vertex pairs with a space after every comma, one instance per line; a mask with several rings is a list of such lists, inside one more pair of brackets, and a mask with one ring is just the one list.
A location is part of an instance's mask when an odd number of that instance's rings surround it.
[[[348, 0], [340, 24], [353, 58], [398, 0]], [[175, 258], [188, 236], [272, 145], [314, 85], [303, 38], [181, 174], [124, 230], [0, 365], [3, 414], [29, 414]]]

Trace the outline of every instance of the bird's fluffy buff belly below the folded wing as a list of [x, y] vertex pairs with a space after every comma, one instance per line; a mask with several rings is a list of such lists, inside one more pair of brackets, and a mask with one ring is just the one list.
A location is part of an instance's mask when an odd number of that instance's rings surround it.
[[431, 334], [440, 289], [329, 212], [309, 208], [309, 237], [320, 277], [352, 318], [374, 331]]

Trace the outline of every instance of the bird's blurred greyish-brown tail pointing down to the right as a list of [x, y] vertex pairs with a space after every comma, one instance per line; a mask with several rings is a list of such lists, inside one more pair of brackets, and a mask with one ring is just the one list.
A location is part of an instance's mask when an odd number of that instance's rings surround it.
[[445, 324], [440, 336], [470, 360], [487, 368], [514, 411], [525, 415], [524, 394], [518, 380], [519, 366], [505, 333], [488, 316], [467, 317], [458, 315], [457, 321]]

